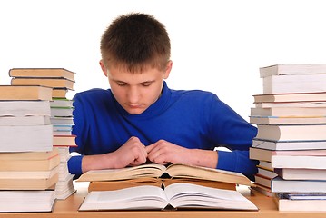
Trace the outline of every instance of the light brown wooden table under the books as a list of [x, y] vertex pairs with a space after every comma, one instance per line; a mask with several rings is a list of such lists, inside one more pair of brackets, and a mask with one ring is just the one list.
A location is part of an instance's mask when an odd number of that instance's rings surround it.
[[271, 197], [262, 195], [261, 193], [252, 193], [249, 189], [242, 189], [240, 192], [252, 201], [259, 211], [114, 211], [114, 212], [78, 212], [78, 208], [84, 200], [87, 193], [87, 186], [77, 187], [77, 192], [66, 200], [58, 200], [54, 205], [54, 212], [52, 213], [0, 213], [0, 218], [6, 217], [65, 217], [65, 218], [78, 218], [78, 217], [130, 217], [130, 218], [155, 218], [155, 217], [169, 217], [169, 218], [314, 218], [326, 217], [326, 213], [322, 212], [279, 212], [276, 204]]

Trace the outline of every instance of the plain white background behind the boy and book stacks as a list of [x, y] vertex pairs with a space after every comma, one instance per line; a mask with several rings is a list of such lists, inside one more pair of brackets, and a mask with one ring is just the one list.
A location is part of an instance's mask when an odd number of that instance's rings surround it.
[[108, 88], [101, 35], [117, 15], [143, 12], [171, 37], [170, 88], [211, 91], [248, 119], [252, 94], [262, 94], [259, 67], [326, 63], [323, 2], [1, 0], [0, 84], [14, 67], [63, 67], [76, 73], [75, 92]]

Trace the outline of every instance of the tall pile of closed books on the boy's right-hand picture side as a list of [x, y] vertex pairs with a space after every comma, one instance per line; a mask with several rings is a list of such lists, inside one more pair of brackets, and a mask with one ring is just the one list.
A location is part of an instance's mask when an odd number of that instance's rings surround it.
[[280, 211], [326, 211], [326, 64], [278, 64], [260, 75], [250, 158], [270, 176], [261, 170], [255, 183], [275, 193]]

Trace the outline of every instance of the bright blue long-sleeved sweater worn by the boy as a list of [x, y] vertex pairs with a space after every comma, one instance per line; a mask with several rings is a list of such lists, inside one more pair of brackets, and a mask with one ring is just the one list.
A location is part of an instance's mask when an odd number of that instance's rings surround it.
[[212, 93], [176, 91], [164, 83], [161, 97], [143, 114], [128, 114], [116, 102], [111, 90], [92, 89], [74, 96], [74, 128], [78, 147], [68, 167], [70, 173], [82, 173], [82, 158], [87, 154], [111, 153], [131, 136], [144, 145], [160, 139], [186, 148], [213, 150], [225, 146], [232, 152], [218, 152], [216, 168], [257, 173], [256, 162], [248, 149], [257, 129]]

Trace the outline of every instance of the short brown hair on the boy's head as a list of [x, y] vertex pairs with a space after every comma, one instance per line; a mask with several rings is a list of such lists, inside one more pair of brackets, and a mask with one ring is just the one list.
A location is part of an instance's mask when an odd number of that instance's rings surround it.
[[114, 64], [130, 72], [147, 66], [164, 69], [170, 60], [170, 38], [152, 15], [120, 15], [102, 35], [101, 54], [106, 67]]

